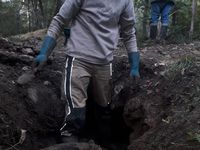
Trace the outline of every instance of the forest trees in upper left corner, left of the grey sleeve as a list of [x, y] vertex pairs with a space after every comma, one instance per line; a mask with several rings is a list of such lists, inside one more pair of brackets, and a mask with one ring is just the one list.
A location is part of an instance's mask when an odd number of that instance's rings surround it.
[[0, 35], [46, 28], [54, 14], [55, 4], [54, 0], [0, 0]]

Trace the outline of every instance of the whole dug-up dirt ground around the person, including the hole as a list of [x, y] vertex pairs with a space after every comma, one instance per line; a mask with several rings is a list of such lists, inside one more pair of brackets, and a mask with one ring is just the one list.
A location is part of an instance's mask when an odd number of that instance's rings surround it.
[[137, 84], [129, 77], [126, 51], [119, 46], [113, 62], [111, 139], [96, 140], [93, 124], [78, 142], [58, 144], [65, 113], [59, 98], [63, 37], [31, 82], [16, 82], [31, 69], [43, 33], [15, 37], [14, 42], [0, 38], [0, 150], [200, 149], [199, 41], [140, 48]]

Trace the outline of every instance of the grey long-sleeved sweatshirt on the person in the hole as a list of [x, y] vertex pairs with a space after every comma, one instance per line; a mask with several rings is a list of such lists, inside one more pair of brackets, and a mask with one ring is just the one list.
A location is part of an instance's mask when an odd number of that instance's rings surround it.
[[119, 29], [127, 52], [137, 51], [133, 0], [65, 0], [47, 35], [57, 39], [69, 23], [69, 56], [93, 64], [110, 63]]

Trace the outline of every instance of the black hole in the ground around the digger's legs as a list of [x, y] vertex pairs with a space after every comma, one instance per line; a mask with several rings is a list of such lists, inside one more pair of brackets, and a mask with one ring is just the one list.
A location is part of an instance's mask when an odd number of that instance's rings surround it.
[[[130, 92], [130, 90], [134, 91]], [[123, 87], [117, 95], [114, 95], [115, 106], [111, 106], [110, 116], [104, 118], [102, 122], [94, 122], [95, 107], [89, 93], [89, 103], [87, 104], [88, 134], [95, 139], [97, 144], [100, 144], [107, 150], [126, 150], [127, 146], [130, 144], [130, 138], [139, 138], [149, 129], [149, 126], [144, 123], [145, 113], [141, 107], [136, 110], [139, 111], [140, 114], [136, 119], [132, 120], [134, 122], [133, 126], [128, 127], [126, 124], [126, 118], [124, 118], [124, 107], [126, 101], [130, 98], [130, 95], [133, 96], [133, 92], [137, 95], [140, 91], [126, 86]], [[107, 122], [107, 119], [109, 119], [110, 122]]]

